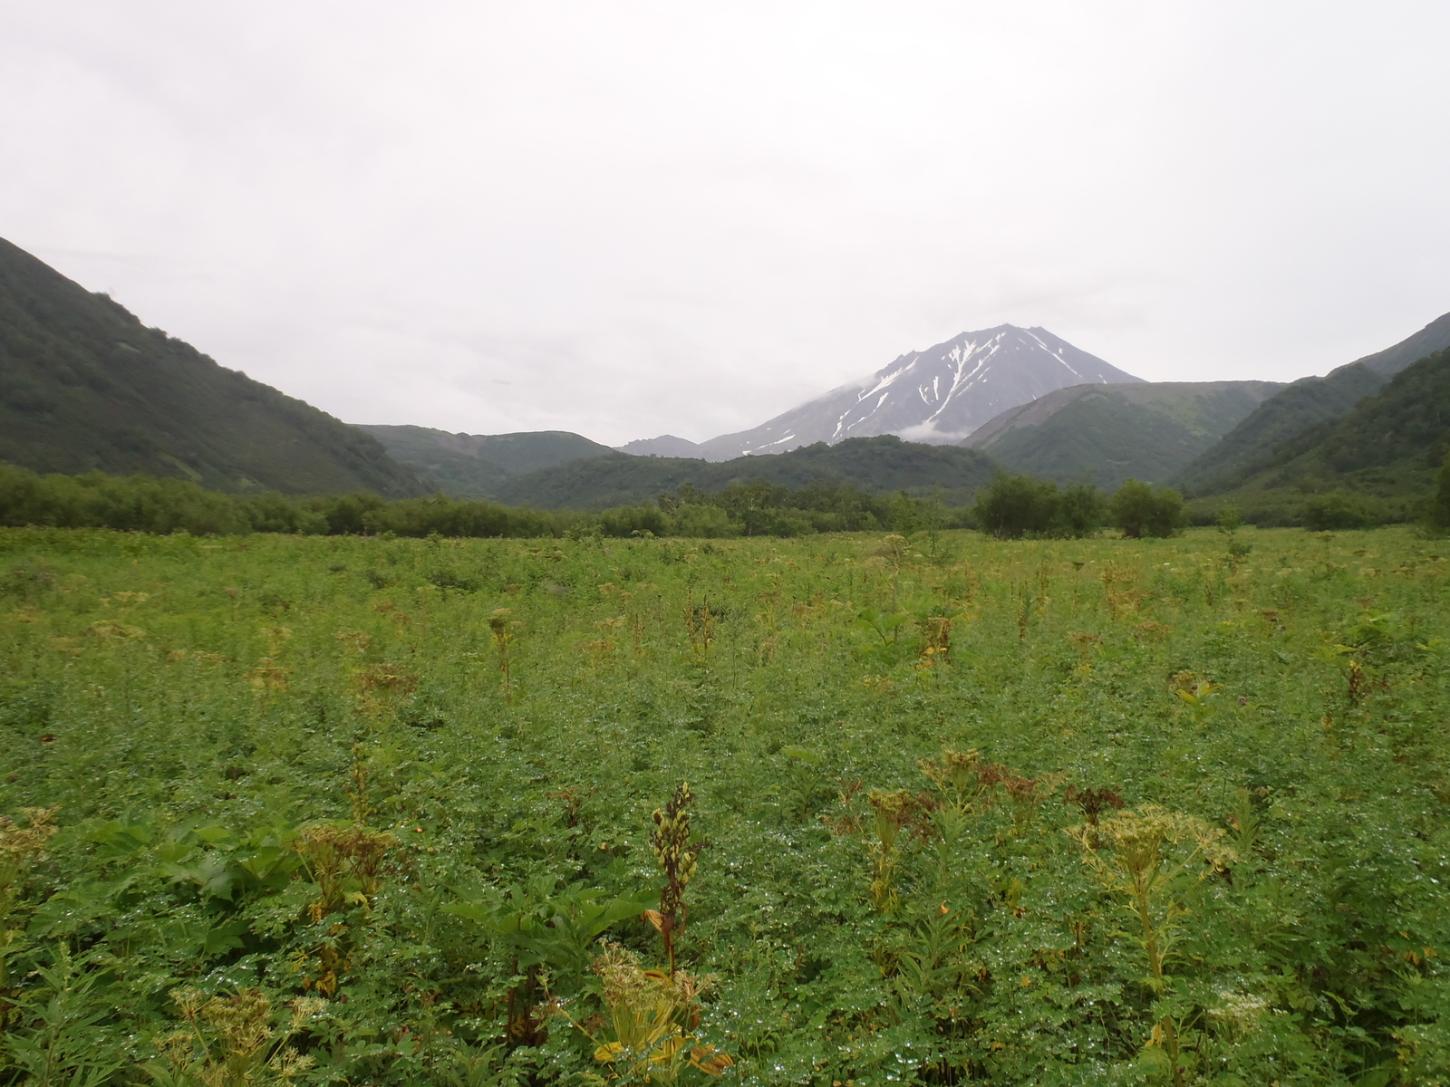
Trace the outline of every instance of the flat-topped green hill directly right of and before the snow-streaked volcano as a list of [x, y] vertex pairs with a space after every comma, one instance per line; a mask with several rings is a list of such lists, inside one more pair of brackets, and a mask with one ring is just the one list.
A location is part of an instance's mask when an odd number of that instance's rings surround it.
[[1283, 388], [1275, 381], [1072, 386], [1003, 412], [961, 445], [1014, 471], [1103, 490], [1166, 483]]

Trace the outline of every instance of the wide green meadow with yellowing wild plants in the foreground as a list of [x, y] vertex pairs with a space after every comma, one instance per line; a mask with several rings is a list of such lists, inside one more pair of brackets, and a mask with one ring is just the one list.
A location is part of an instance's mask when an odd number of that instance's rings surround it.
[[0, 530], [0, 1084], [1450, 1083], [1447, 546]]

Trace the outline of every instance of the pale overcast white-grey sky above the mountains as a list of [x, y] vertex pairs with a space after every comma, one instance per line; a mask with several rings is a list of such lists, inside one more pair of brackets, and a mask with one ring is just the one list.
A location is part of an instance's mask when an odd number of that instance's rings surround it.
[[1450, 3], [0, 0], [0, 236], [348, 420], [754, 426], [966, 329], [1450, 310]]

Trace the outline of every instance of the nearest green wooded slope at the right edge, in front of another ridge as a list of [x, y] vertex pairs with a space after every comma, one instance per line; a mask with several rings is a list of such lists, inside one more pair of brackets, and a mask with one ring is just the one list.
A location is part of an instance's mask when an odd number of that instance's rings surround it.
[[1340, 419], [1282, 442], [1232, 490], [1199, 499], [1199, 512], [1231, 499], [1260, 522], [1292, 522], [1314, 496], [1357, 494], [1380, 519], [1412, 519], [1450, 451], [1450, 349], [1401, 370]]

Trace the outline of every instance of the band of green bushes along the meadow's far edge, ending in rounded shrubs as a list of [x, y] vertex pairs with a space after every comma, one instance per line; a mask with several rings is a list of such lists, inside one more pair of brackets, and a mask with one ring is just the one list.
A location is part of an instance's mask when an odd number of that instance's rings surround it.
[[1103, 528], [1125, 536], [1172, 536], [1188, 523], [1169, 487], [1128, 481], [1103, 494], [1090, 484], [1058, 488], [1028, 475], [998, 475], [972, 506], [940, 497], [871, 494], [834, 481], [790, 488], [766, 480], [706, 493], [693, 484], [654, 503], [599, 512], [535, 510], [445, 494], [387, 500], [376, 494], [296, 497], [277, 491], [229, 494], [175, 477], [39, 475], [0, 464], [0, 525], [106, 528], [120, 532], [396, 536], [802, 536], [816, 532], [934, 532], [974, 528], [1002, 539], [1088, 536]]

